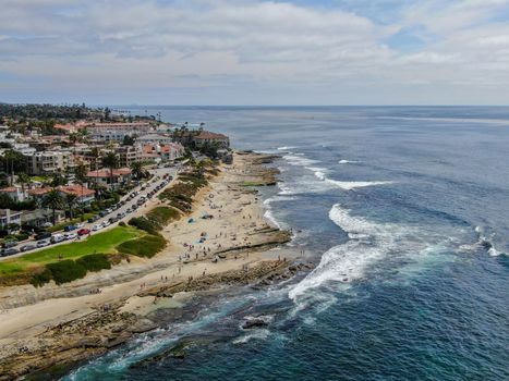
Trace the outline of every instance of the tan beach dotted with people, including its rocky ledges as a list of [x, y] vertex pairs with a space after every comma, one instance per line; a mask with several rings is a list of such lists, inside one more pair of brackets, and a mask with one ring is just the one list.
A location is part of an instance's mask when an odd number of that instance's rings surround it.
[[[0, 373], [12, 378], [102, 353], [155, 328], [145, 318], [155, 308], [174, 307], [197, 291], [269, 274], [274, 280], [275, 273], [288, 272], [299, 255], [281, 247], [290, 233], [264, 219], [262, 200], [249, 186], [275, 183], [275, 172], [263, 165], [270, 160], [238, 153], [232, 165], [221, 164], [219, 174], [196, 195], [192, 212], [165, 228], [169, 244], [152, 259], [131, 256], [130, 262], [61, 286], [0, 290]], [[122, 329], [125, 321], [130, 329]], [[62, 327], [68, 329], [65, 343], [56, 331]], [[87, 332], [73, 327], [86, 327]], [[45, 361], [44, 354], [51, 352], [59, 355]]]

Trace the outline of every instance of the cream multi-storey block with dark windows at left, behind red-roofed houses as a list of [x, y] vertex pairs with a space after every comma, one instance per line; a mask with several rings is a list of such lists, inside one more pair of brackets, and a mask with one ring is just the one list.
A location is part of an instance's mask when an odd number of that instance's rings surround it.
[[63, 173], [75, 167], [74, 156], [70, 151], [48, 150], [24, 157], [26, 172], [33, 175]]

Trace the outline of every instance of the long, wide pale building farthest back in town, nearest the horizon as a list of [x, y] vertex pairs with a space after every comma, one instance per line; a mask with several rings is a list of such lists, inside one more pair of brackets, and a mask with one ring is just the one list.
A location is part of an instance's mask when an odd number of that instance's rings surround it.
[[152, 131], [148, 122], [94, 123], [87, 126], [88, 135], [102, 142], [122, 142], [125, 136], [146, 135]]

